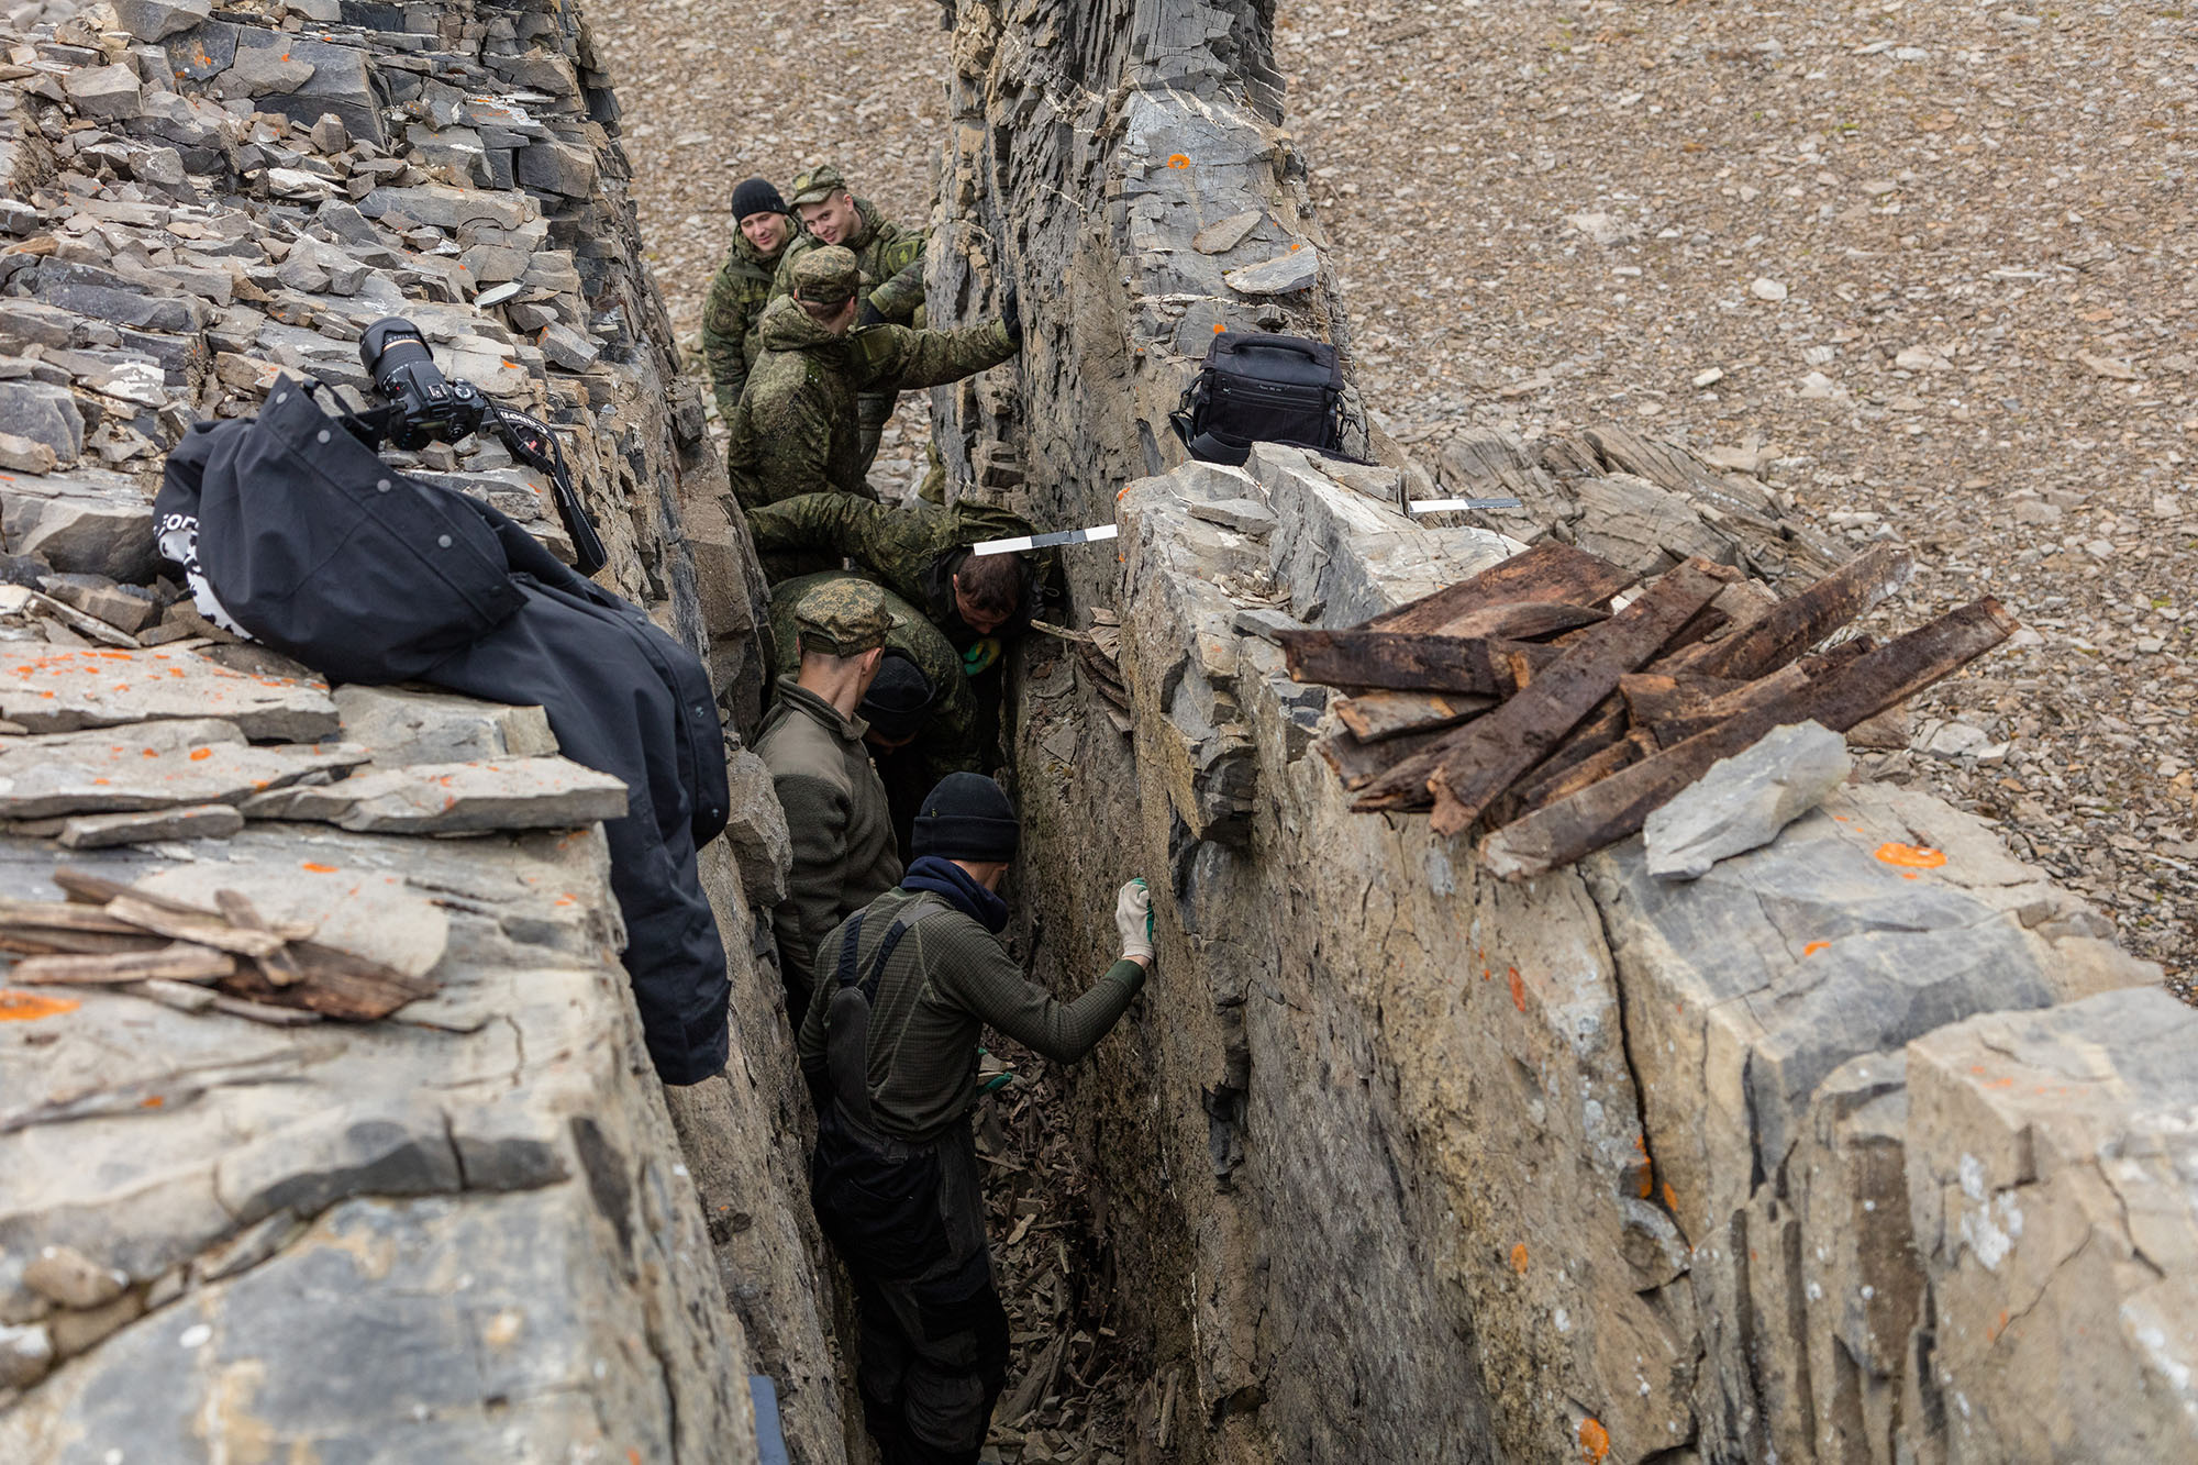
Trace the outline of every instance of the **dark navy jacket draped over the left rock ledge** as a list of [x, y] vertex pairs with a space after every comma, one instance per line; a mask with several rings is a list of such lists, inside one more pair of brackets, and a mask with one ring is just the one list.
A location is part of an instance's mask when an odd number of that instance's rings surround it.
[[725, 1067], [732, 983], [697, 869], [725, 827], [725, 741], [692, 651], [488, 504], [385, 464], [292, 378], [176, 444], [154, 519], [198, 521], [200, 572], [268, 647], [332, 682], [539, 704], [565, 757], [622, 779], [602, 831], [648, 1056], [668, 1084]]

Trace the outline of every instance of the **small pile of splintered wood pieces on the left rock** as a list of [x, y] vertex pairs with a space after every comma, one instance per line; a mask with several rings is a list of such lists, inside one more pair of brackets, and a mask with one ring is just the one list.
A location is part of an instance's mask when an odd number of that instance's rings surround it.
[[312, 941], [310, 926], [266, 922], [240, 891], [218, 911], [59, 869], [68, 900], [0, 900], [0, 952], [20, 985], [101, 985], [200, 1012], [275, 1025], [371, 1023], [435, 983]]

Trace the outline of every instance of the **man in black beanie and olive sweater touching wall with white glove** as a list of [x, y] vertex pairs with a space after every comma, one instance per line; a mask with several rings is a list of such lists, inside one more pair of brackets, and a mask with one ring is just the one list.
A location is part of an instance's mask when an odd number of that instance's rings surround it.
[[818, 1221], [855, 1278], [864, 1428], [886, 1465], [969, 1463], [1007, 1381], [969, 1133], [989, 1025], [1055, 1062], [1114, 1027], [1152, 966], [1152, 897], [1121, 886], [1121, 959], [1059, 1001], [1000, 944], [998, 889], [1020, 825], [1000, 785], [958, 772], [925, 794], [914, 862], [818, 946], [800, 1054], [818, 1100]]

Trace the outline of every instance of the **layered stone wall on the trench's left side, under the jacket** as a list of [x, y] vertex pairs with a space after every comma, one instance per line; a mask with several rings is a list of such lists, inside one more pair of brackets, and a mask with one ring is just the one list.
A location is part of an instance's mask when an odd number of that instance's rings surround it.
[[[189, 992], [0, 1001], [0, 1458], [750, 1461], [752, 1373], [796, 1461], [844, 1458], [798, 1082], [776, 977], [750, 959], [787, 858], [756, 759], [734, 741], [734, 825], [703, 856], [732, 1062], [666, 1091], [618, 968], [600, 803], [558, 805], [569, 765], [541, 763], [539, 715], [330, 697], [156, 581], [152, 488], [185, 427], [255, 411], [281, 374], [363, 389], [363, 326], [407, 315], [446, 372], [556, 425], [604, 583], [706, 653], [728, 726], [752, 728], [761, 576], [675, 376], [626, 174], [563, 0], [0, 7], [9, 779], [55, 765], [48, 735], [116, 726], [147, 757], [211, 746], [200, 781], [365, 761], [418, 805], [442, 779], [420, 805], [440, 816], [382, 827], [567, 825], [374, 834], [347, 794], [365, 785], [306, 787], [317, 772], [281, 812], [345, 829], [242, 820], [251, 779], [97, 838], [0, 829], [9, 900], [57, 900], [59, 864], [233, 889], [440, 985], [363, 1027], [273, 1027]], [[569, 557], [499, 444], [398, 460]], [[207, 693], [24, 680], [70, 656]], [[106, 838], [127, 842], [90, 849]]]

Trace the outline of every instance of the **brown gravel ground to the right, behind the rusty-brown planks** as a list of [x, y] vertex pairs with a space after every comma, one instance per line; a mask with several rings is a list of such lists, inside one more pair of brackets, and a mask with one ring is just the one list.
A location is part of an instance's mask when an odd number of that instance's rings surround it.
[[2189, 996], [2191, 11], [1286, 2], [1277, 51], [1391, 429], [1750, 451], [1914, 548], [1892, 620], [1998, 596], [1903, 757]]

